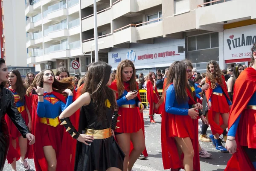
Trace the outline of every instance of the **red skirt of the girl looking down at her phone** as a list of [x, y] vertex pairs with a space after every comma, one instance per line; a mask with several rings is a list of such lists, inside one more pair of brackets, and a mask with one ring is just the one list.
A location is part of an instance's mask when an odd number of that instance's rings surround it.
[[118, 114], [121, 116], [117, 117], [117, 120], [119, 120], [119, 122], [116, 123], [116, 126], [119, 128], [116, 128], [115, 132], [136, 133], [142, 128], [140, 113], [137, 107], [119, 107]]

